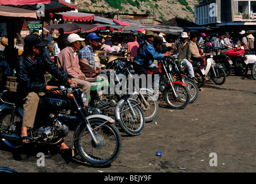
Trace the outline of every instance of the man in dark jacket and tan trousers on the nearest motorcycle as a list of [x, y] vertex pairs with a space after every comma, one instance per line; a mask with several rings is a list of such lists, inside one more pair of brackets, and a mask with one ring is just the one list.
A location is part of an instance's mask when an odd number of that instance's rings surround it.
[[[17, 92], [24, 98], [24, 115], [21, 127], [21, 141], [29, 143], [28, 127], [33, 128], [37, 106], [39, 104], [39, 96], [46, 91], [51, 91], [56, 86], [45, 85], [45, 72], [59, 79], [64, 83], [70, 83], [77, 86], [77, 82], [71, 81], [70, 76], [58, 68], [52, 62], [47, 48], [47, 44], [41, 41], [36, 34], [29, 34], [24, 39], [24, 52], [17, 62]], [[51, 93], [59, 94], [60, 91], [51, 91]], [[66, 151], [69, 148], [62, 142], [60, 150]]]

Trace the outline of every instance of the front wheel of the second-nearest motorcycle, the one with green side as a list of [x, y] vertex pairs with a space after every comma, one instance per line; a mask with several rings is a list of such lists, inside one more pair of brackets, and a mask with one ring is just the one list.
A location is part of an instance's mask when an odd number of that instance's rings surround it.
[[133, 110], [136, 114], [136, 120], [133, 119], [131, 110], [128, 108], [128, 105], [124, 102], [120, 105], [120, 121], [119, 125], [125, 133], [131, 136], [137, 136], [142, 133], [145, 127], [145, 117], [143, 114], [142, 108], [137, 105], [136, 102], [130, 101], [133, 107]]

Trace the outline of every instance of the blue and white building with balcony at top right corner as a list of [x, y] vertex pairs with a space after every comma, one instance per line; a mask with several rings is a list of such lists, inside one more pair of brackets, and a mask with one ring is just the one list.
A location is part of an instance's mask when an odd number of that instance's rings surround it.
[[202, 26], [255, 26], [256, 0], [200, 0], [194, 21]]

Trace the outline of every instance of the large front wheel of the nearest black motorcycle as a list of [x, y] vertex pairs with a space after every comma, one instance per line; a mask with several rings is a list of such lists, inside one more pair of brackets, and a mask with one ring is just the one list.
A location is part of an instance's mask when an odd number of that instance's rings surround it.
[[75, 135], [75, 150], [82, 160], [93, 166], [106, 166], [120, 154], [122, 147], [121, 134], [114, 124], [104, 123], [101, 119], [91, 119], [89, 123], [100, 144], [95, 145], [86, 125], [78, 127]]

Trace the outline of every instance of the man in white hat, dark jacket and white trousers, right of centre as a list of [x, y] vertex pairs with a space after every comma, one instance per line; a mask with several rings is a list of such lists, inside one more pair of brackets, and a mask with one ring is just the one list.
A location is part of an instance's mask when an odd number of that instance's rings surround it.
[[191, 52], [188, 43], [188, 33], [182, 32], [181, 39], [174, 43], [174, 47], [179, 51], [178, 58], [182, 59], [182, 64], [188, 68], [189, 76], [194, 80], [194, 83], [198, 83], [197, 79], [194, 77], [194, 70], [191, 60]]

